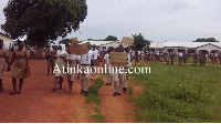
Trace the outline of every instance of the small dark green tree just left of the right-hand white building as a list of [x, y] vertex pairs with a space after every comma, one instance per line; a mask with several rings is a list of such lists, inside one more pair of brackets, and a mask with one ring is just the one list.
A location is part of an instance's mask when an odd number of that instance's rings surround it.
[[136, 49], [137, 50], [148, 50], [149, 49], [149, 44], [150, 44], [150, 41], [148, 40], [145, 40], [144, 35], [141, 33], [139, 34], [133, 34], [134, 37], [134, 44], [136, 45]]

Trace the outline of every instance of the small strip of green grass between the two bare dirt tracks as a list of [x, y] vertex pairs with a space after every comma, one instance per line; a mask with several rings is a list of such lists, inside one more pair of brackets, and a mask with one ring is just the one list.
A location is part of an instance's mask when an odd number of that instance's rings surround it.
[[98, 94], [99, 87], [104, 84], [102, 79], [97, 79], [93, 82], [93, 84], [88, 89], [88, 95], [86, 97], [86, 103], [95, 103], [101, 104], [101, 97]]

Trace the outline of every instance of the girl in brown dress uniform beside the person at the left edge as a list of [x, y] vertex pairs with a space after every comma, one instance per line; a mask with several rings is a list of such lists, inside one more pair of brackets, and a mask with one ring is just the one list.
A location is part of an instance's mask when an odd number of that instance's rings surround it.
[[[13, 95], [15, 93], [21, 94], [23, 79], [28, 78], [27, 69], [29, 69], [30, 64], [29, 64], [27, 51], [23, 50], [23, 48], [24, 48], [24, 42], [18, 41], [18, 49], [13, 51], [11, 62], [9, 63], [9, 66], [8, 66], [8, 71], [10, 71], [11, 65], [14, 63], [13, 71], [12, 71], [13, 91], [10, 92], [10, 95]], [[18, 91], [17, 91], [17, 79], [20, 80]]]

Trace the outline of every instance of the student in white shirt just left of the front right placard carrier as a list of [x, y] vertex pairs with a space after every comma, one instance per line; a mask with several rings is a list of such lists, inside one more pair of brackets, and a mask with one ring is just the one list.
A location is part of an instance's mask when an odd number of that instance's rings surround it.
[[113, 83], [113, 72], [112, 72], [112, 65], [109, 64], [109, 59], [110, 59], [110, 50], [107, 50], [106, 54], [104, 55], [104, 61], [106, 64], [106, 78], [107, 82], [106, 85], [112, 85]]

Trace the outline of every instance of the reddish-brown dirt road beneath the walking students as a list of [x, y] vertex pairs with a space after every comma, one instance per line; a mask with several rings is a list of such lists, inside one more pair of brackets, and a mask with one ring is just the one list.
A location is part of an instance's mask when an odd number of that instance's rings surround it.
[[[66, 78], [62, 91], [52, 92], [53, 75], [46, 75], [46, 62], [31, 61], [31, 76], [24, 80], [22, 94], [9, 95], [12, 90], [11, 72], [4, 72], [0, 93], [1, 123], [92, 123], [92, 108], [86, 107], [85, 96], [80, 94], [80, 80], [75, 79], [73, 94], [69, 92]], [[92, 84], [92, 82], [90, 82]], [[113, 86], [99, 91], [102, 114], [106, 122], [133, 122], [133, 105], [128, 96], [112, 96]]]

